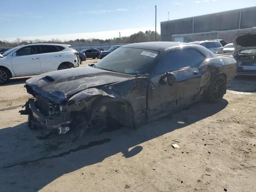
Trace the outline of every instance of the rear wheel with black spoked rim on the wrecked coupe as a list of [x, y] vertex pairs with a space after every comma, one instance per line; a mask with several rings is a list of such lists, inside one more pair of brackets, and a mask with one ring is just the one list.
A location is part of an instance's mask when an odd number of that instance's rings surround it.
[[217, 103], [222, 100], [227, 90], [227, 81], [223, 74], [214, 78], [207, 92], [207, 100], [210, 103]]

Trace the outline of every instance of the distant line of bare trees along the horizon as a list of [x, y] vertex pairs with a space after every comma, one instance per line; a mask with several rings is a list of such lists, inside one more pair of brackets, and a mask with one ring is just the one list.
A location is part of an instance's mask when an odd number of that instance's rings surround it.
[[[156, 41], [160, 41], [160, 34], [156, 32]], [[140, 42], [150, 42], [155, 41], [155, 32], [151, 30], [146, 30], [145, 32], [137, 32], [130, 36], [124, 36], [121, 38], [110, 38], [110, 39], [96, 39], [96, 38], [89, 38], [89, 39], [75, 39], [69, 41], [62, 41], [58, 38], [52, 38], [52, 40], [23, 40], [21, 38], [17, 38], [14, 41], [6, 41], [0, 40], [0, 47], [15, 47], [22, 44], [28, 43], [62, 43], [62, 44], [70, 44], [70, 45], [79, 45], [79, 44], [118, 44], [118, 43], [140, 43]]]

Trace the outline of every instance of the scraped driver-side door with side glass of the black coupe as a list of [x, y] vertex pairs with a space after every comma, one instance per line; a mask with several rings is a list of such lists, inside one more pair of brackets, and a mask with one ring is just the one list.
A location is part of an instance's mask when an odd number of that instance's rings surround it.
[[[193, 58], [196, 57], [196, 58]], [[148, 118], [166, 116], [200, 98], [201, 72], [198, 66], [205, 57], [197, 50], [178, 50], [166, 54], [158, 64], [148, 86]], [[172, 72], [175, 81], [167, 82], [166, 72]]]

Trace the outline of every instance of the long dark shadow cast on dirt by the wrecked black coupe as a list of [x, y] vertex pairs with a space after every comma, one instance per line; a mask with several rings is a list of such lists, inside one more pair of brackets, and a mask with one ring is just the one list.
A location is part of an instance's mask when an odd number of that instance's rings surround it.
[[[36, 135], [43, 130], [30, 130], [26, 123], [0, 129], [1, 191], [38, 191], [63, 174], [109, 161], [117, 153], [123, 158], [140, 155], [144, 142], [212, 116], [227, 105], [225, 99], [217, 104], [202, 101], [137, 130], [113, 127], [101, 134], [88, 130], [74, 143], [69, 134], [38, 140]], [[166, 140], [166, 146], [171, 140]]]

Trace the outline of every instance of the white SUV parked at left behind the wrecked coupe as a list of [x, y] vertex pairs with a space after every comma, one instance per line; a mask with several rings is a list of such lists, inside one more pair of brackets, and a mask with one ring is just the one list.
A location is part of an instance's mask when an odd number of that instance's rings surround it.
[[79, 66], [79, 54], [70, 45], [34, 43], [14, 47], [0, 54], [0, 84], [9, 78]]

